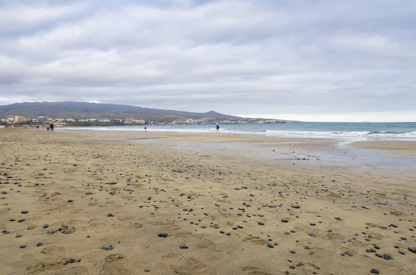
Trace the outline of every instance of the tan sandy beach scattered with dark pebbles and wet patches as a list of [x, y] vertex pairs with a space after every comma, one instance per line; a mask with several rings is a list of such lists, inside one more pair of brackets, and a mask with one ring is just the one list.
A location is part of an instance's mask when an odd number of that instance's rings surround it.
[[0, 148], [0, 274], [416, 274], [416, 142], [0, 129]]

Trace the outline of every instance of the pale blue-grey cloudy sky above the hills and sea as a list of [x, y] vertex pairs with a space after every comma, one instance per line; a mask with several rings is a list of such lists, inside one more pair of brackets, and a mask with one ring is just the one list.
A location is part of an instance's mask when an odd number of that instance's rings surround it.
[[0, 1], [0, 105], [416, 121], [415, 0]]

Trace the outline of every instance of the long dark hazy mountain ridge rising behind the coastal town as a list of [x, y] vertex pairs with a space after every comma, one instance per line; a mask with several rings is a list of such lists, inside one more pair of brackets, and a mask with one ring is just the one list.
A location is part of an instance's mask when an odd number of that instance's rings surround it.
[[151, 109], [130, 105], [86, 103], [75, 101], [15, 103], [0, 106], [0, 117], [6, 116], [49, 116], [53, 118], [126, 118], [134, 116], [146, 120], [163, 118], [238, 118], [214, 111], [207, 113], [181, 112], [166, 109]]

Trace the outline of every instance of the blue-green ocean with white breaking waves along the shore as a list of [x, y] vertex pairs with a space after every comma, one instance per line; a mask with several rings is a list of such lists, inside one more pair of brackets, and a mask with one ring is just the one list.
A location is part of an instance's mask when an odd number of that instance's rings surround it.
[[[144, 131], [144, 126], [68, 127], [78, 131]], [[215, 125], [147, 125], [148, 132], [215, 134]], [[220, 125], [220, 134], [245, 136], [367, 138], [416, 141], [416, 123], [279, 123]]]

